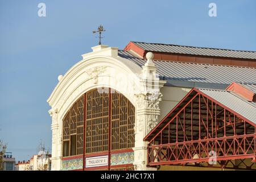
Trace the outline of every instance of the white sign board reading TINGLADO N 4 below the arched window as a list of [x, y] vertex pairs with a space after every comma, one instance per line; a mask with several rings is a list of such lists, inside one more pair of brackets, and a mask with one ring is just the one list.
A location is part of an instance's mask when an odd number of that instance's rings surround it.
[[89, 167], [99, 167], [99, 166], [108, 166], [109, 165], [109, 156], [102, 155], [92, 158], [85, 158], [85, 168]]

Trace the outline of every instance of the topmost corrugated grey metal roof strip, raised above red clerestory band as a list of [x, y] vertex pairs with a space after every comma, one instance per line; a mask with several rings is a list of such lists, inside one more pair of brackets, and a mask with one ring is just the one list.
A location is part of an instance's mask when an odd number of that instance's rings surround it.
[[146, 51], [181, 53], [181, 54], [200, 55], [200, 56], [256, 59], [256, 51], [236, 51], [231, 49], [178, 46], [173, 44], [157, 44], [157, 43], [143, 43], [143, 42], [133, 42], [133, 43]]

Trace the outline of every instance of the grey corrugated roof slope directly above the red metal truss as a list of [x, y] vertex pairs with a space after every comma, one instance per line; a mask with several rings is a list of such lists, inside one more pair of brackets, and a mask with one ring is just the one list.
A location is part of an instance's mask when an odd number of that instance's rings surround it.
[[242, 97], [237, 96], [233, 92], [225, 90], [211, 90], [211, 89], [199, 89], [201, 92], [212, 97], [217, 102], [220, 102], [224, 106], [232, 109], [236, 113], [242, 115], [251, 122], [256, 123], [256, 104], [255, 102], [249, 102]]

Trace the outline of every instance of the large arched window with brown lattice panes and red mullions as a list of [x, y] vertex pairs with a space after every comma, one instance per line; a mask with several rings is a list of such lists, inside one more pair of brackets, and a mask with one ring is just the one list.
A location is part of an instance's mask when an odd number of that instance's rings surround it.
[[63, 156], [132, 148], [134, 125], [135, 108], [125, 96], [110, 88], [90, 90], [63, 119]]

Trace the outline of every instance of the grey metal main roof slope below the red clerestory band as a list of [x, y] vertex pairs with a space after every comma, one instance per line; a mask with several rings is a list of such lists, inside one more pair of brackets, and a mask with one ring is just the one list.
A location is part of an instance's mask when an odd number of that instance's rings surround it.
[[[146, 60], [139, 59], [127, 51], [119, 51], [118, 55], [133, 61], [140, 67], [146, 63]], [[172, 84], [174, 82], [181, 84], [183, 82], [191, 88], [218, 89], [225, 89], [232, 82], [256, 84], [256, 68], [200, 63], [182, 63], [162, 60], [154, 60], [154, 63], [158, 67], [157, 70], [159, 77], [163, 79], [164, 76], [164, 79], [167, 80], [167, 84]], [[223, 86], [209, 86], [209, 84], [221, 84]], [[181, 84], [180, 86], [184, 85]]]

